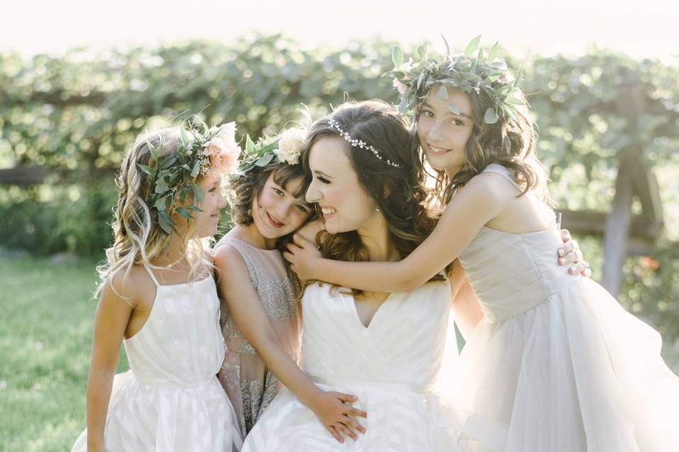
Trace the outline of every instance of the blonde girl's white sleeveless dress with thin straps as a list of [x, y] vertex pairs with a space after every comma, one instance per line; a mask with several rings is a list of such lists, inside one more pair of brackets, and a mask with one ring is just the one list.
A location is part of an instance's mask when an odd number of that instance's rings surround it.
[[[151, 314], [123, 341], [130, 370], [115, 376], [104, 430], [108, 452], [238, 451], [236, 415], [216, 374], [224, 359], [219, 298], [209, 276], [159, 285]], [[87, 450], [87, 429], [72, 451]]]

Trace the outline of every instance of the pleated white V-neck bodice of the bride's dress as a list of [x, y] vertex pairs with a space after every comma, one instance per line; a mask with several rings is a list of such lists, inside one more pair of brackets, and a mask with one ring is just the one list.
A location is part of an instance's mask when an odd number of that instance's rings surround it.
[[320, 379], [427, 386], [441, 367], [450, 297], [446, 282], [385, 299], [364, 326], [351, 293], [329, 284], [302, 299], [302, 362]]

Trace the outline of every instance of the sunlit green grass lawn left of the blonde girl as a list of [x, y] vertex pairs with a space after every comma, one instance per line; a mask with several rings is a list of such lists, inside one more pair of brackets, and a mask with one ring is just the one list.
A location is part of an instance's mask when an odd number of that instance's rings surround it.
[[94, 268], [0, 256], [0, 451], [66, 451], [85, 426]]

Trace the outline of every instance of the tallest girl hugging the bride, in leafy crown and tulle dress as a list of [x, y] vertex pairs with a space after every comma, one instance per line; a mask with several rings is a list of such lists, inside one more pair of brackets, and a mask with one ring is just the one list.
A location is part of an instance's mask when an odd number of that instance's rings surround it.
[[402, 261], [381, 263], [324, 259], [298, 239], [287, 255], [294, 270], [407, 292], [459, 258], [485, 319], [451, 382], [462, 422], [451, 421], [453, 450], [679, 450], [679, 379], [659, 356], [658, 333], [593, 281], [553, 266], [560, 239], [519, 81], [495, 49], [488, 59], [470, 58], [474, 50], [392, 73], [440, 172], [447, 206], [434, 232]]

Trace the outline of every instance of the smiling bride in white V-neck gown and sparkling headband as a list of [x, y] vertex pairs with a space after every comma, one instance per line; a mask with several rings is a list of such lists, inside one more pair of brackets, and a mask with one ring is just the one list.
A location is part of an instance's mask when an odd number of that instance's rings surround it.
[[[345, 103], [312, 126], [302, 158], [313, 175], [306, 199], [323, 211], [323, 256], [398, 261], [433, 230], [413, 145], [403, 119], [383, 102]], [[243, 452], [450, 450], [446, 431], [434, 426], [446, 410], [436, 391], [443, 357], [457, 355], [451, 300], [463, 326], [482, 317], [461, 268], [453, 263], [407, 293], [304, 284], [304, 370], [324, 390], [358, 396], [357, 407], [368, 412], [365, 434], [338, 444], [283, 390]], [[348, 427], [343, 433], [354, 436]]]

